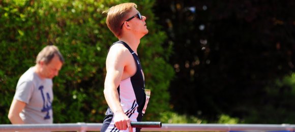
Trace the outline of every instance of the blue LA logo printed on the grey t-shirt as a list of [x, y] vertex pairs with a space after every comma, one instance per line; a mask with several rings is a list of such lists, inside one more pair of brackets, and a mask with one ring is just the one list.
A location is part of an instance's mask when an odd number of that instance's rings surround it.
[[39, 90], [41, 91], [41, 95], [42, 95], [42, 101], [43, 101], [43, 108], [42, 108], [41, 112], [47, 112], [46, 116], [44, 117], [44, 120], [46, 120], [46, 119], [50, 119], [49, 111], [52, 109], [52, 106], [51, 106], [51, 101], [50, 101], [50, 95], [48, 92], [46, 93], [46, 99], [47, 99], [46, 100], [45, 95], [43, 93], [43, 88], [44, 88], [44, 86], [39, 87]]

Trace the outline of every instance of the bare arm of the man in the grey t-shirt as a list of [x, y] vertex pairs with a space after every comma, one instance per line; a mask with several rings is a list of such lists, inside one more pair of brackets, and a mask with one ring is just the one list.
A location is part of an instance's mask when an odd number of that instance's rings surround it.
[[13, 100], [9, 109], [8, 113], [8, 119], [12, 124], [23, 124], [23, 121], [21, 120], [19, 113], [22, 111], [22, 109], [25, 107], [25, 103]]

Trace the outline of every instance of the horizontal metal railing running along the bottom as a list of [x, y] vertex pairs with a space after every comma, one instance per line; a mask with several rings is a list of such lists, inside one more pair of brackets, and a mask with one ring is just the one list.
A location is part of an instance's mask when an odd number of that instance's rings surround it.
[[[102, 123], [0, 124], [0, 131], [100, 131]], [[141, 131], [295, 131], [293, 124], [168, 124]]]

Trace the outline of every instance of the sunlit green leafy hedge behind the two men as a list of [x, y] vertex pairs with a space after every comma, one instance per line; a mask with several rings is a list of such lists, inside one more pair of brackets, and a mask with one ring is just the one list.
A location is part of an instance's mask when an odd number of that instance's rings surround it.
[[[60, 48], [65, 64], [53, 79], [54, 123], [102, 122], [107, 108], [103, 95], [105, 58], [117, 39], [106, 26], [103, 11], [129, 1], [35, 0], [0, 2], [0, 122], [7, 114], [19, 77], [35, 65], [38, 52], [48, 44]], [[163, 48], [165, 32], [155, 23], [154, 1], [136, 2], [147, 17], [149, 34], [138, 53], [146, 88], [152, 89], [144, 120], [159, 120], [169, 109], [167, 88], [174, 76], [167, 63], [171, 47]]]

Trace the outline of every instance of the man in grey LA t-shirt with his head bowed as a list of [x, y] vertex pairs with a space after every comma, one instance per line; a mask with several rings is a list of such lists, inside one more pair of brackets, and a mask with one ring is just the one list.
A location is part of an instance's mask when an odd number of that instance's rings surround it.
[[56, 46], [39, 52], [36, 65], [18, 80], [8, 118], [12, 124], [53, 123], [52, 78], [58, 75], [64, 58]]

